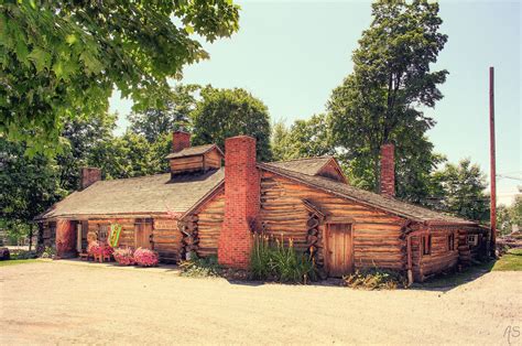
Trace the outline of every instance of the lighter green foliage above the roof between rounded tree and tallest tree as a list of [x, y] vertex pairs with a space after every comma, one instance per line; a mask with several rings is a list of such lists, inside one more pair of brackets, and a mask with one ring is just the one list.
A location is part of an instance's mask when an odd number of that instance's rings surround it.
[[272, 129], [271, 149], [274, 161], [333, 155], [331, 133], [326, 115], [296, 120], [290, 128], [282, 121]]

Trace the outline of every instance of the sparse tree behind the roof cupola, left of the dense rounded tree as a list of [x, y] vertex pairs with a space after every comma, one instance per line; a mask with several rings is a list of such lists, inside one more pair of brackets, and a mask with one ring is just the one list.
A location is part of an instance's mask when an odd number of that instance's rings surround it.
[[180, 129], [191, 129], [191, 112], [196, 108], [195, 91], [198, 85], [176, 85], [163, 108], [149, 108], [131, 112], [128, 117], [130, 129], [152, 143], [162, 134]]

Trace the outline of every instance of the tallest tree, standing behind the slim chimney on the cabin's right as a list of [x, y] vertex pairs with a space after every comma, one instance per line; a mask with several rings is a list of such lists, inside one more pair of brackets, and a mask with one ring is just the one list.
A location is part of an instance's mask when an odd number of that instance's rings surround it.
[[431, 64], [447, 36], [438, 32], [437, 3], [380, 0], [372, 15], [354, 52], [354, 73], [328, 101], [334, 143], [346, 152], [350, 181], [376, 192], [380, 147], [394, 143], [398, 196], [416, 201], [441, 159], [425, 137], [435, 122], [418, 108], [433, 108], [443, 97], [437, 85], [447, 72], [431, 72]]

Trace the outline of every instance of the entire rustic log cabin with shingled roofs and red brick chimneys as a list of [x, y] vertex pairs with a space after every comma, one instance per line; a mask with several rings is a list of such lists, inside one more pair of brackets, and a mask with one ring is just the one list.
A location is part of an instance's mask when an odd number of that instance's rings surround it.
[[166, 174], [102, 181], [100, 170], [83, 169], [80, 190], [37, 217], [39, 242], [74, 257], [119, 224], [118, 246], [153, 249], [162, 262], [214, 255], [248, 269], [252, 234], [264, 233], [292, 238], [324, 275], [377, 267], [411, 282], [486, 252], [477, 223], [394, 197], [392, 144], [381, 149], [380, 194], [351, 186], [333, 156], [257, 162], [248, 136], [227, 139], [224, 153], [191, 147], [177, 131], [172, 147]]

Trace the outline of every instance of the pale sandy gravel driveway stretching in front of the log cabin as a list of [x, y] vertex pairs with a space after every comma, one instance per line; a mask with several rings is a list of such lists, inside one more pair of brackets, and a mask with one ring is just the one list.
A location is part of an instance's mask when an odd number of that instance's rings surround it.
[[[505, 344], [522, 272], [449, 291], [232, 284], [67, 262], [0, 268], [0, 344]], [[513, 329], [511, 329], [513, 331]], [[511, 344], [522, 336], [511, 334]]]

